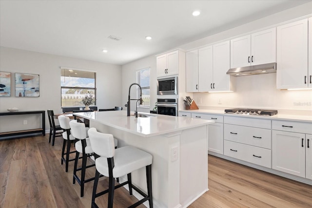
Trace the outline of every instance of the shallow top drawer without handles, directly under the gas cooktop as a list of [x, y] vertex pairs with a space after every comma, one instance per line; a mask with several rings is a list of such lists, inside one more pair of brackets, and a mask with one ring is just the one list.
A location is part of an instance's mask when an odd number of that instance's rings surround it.
[[271, 129], [271, 120], [259, 118], [242, 118], [239, 116], [224, 116], [224, 123], [240, 126], [250, 126], [262, 129]]

